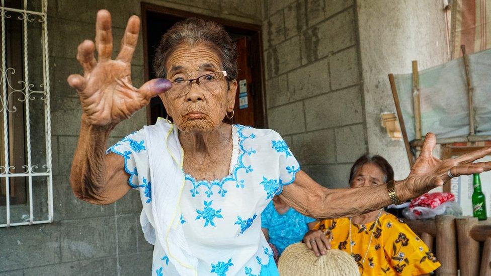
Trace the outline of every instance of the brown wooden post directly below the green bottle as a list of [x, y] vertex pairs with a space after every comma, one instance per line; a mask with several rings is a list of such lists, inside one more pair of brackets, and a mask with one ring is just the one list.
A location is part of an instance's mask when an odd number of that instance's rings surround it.
[[479, 273], [479, 242], [470, 234], [477, 225], [477, 218], [464, 217], [456, 219], [459, 245], [460, 275], [474, 276]]

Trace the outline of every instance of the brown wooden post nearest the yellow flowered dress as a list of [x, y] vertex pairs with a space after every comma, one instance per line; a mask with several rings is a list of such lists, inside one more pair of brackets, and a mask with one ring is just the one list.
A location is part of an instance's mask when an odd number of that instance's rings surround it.
[[[455, 217], [436, 216], [437, 234], [435, 253], [440, 261], [436, 271], [438, 275], [457, 275], [457, 240], [455, 235]], [[462, 274], [462, 276], [464, 276]]]

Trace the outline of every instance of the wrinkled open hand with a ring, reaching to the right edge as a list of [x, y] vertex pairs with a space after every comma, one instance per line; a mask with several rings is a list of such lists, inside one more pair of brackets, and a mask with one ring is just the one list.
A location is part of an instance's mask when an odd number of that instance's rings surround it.
[[420, 196], [435, 187], [442, 186], [450, 179], [449, 169], [454, 177], [491, 170], [491, 162], [472, 163], [491, 153], [491, 147], [463, 154], [457, 158], [440, 160], [432, 154], [435, 145], [435, 134], [428, 133], [421, 154], [416, 159], [411, 173], [405, 179], [411, 197]]

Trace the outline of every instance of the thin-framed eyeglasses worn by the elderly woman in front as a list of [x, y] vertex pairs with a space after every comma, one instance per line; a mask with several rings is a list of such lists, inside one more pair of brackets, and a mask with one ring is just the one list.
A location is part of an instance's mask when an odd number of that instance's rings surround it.
[[167, 91], [172, 97], [182, 97], [189, 93], [193, 81], [196, 80], [196, 84], [200, 85], [207, 91], [216, 91], [221, 88], [221, 85], [225, 81], [227, 71], [216, 71], [206, 75], [199, 76], [197, 78], [184, 79], [178, 78], [172, 82], [172, 88]]

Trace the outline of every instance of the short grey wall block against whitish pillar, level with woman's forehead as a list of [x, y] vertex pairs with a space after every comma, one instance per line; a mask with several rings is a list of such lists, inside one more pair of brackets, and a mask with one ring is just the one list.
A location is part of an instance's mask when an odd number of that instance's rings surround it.
[[330, 57], [331, 85], [340, 89], [360, 82], [360, 65], [356, 47], [338, 52]]

